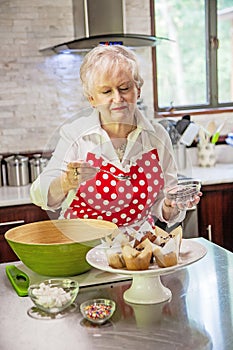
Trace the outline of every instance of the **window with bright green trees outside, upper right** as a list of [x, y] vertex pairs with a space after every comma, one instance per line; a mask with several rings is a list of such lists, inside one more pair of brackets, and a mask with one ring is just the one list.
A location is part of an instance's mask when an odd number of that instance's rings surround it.
[[154, 0], [157, 110], [233, 107], [232, 0]]

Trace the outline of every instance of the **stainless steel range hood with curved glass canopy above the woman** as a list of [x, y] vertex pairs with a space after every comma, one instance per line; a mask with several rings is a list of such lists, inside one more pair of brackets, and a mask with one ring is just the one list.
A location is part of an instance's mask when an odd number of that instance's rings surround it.
[[[124, 0], [73, 0], [75, 40], [43, 49], [56, 53], [90, 50], [103, 45], [153, 47], [165, 38], [125, 33]], [[168, 40], [168, 39], [165, 39]]]

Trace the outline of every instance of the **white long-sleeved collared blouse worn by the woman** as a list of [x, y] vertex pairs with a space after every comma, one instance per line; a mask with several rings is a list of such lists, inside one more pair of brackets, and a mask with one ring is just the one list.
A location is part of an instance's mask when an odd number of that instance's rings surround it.
[[[71, 190], [59, 207], [49, 207], [47, 202], [50, 183], [62, 174], [67, 162], [85, 160], [88, 152], [101, 156], [127, 172], [142, 154], [157, 149], [164, 177], [164, 187], [174, 186], [177, 183], [177, 167], [168, 133], [159, 123], [152, 125], [139, 110], [136, 110], [135, 117], [137, 128], [128, 136], [122, 161], [119, 160], [108, 134], [102, 129], [96, 110], [93, 110], [88, 117], [77, 118], [62, 126], [60, 140], [47, 167], [31, 186], [32, 202], [44, 210], [54, 211], [61, 208], [60, 218], [63, 218], [63, 213], [74, 199], [76, 190]], [[162, 215], [163, 201], [164, 193], [161, 190], [151, 208], [151, 214], [160, 221], [167, 222]], [[168, 225], [181, 222], [184, 217], [185, 211], [175, 210]]]

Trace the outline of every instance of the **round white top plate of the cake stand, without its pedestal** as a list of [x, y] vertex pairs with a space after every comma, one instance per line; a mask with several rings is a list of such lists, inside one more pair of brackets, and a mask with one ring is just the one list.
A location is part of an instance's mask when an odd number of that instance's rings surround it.
[[192, 241], [190, 239], [182, 239], [179, 263], [171, 267], [159, 268], [158, 265], [154, 263], [150, 265], [148, 270], [131, 271], [127, 270], [126, 268], [114, 269], [108, 265], [105, 249], [101, 245], [91, 249], [87, 253], [86, 259], [91, 266], [99, 270], [104, 270], [111, 273], [120, 273], [125, 275], [164, 275], [200, 260], [205, 256], [206, 253], [206, 248], [200, 243]]

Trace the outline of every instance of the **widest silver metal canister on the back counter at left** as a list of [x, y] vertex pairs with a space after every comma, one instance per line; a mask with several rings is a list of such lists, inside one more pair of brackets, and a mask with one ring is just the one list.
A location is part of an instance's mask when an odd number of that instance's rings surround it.
[[5, 158], [8, 186], [25, 186], [29, 184], [28, 157], [12, 155]]

